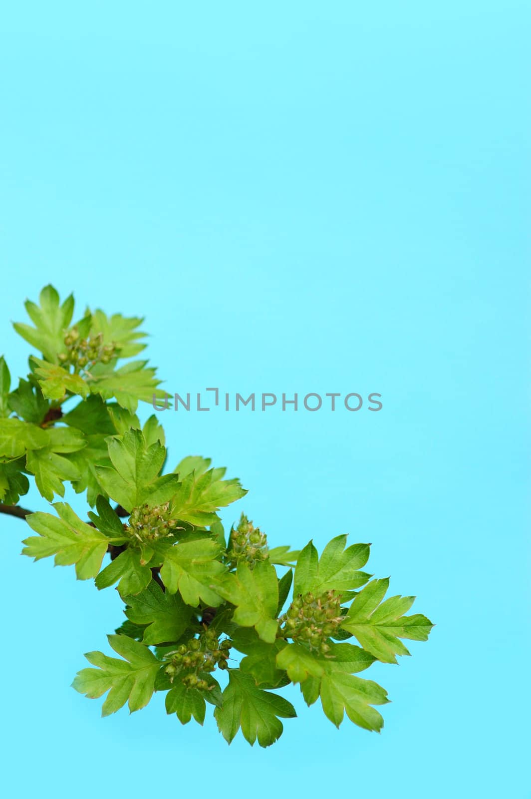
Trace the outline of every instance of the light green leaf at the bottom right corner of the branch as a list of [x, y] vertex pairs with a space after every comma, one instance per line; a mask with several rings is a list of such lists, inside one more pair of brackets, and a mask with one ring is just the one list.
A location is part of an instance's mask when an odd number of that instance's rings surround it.
[[341, 671], [325, 674], [321, 680], [321, 704], [327, 718], [339, 727], [343, 712], [359, 727], [378, 732], [383, 719], [371, 705], [385, 705], [387, 692], [377, 682], [363, 680]]

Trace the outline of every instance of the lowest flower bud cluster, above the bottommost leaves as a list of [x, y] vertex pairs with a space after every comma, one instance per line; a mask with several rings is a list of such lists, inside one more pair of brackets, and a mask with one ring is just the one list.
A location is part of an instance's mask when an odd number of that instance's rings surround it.
[[199, 638], [190, 638], [188, 643], [181, 644], [175, 652], [166, 655], [166, 658], [171, 658], [165, 668], [169, 682], [179, 677], [187, 688], [212, 690], [213, 686], [209, 686], [200, 673], [213, 671], [216, 666], [226, 669], [231, 646], [228, 638], [220, 642], [213, 630], [206, 630]]

